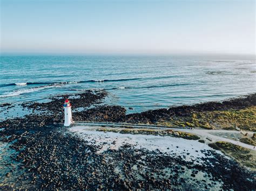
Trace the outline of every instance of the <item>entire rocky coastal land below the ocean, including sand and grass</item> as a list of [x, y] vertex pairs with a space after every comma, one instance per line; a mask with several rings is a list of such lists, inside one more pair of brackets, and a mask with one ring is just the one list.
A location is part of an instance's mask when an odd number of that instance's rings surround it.
[[[128, 115], [119, 105], [107, 105], [104, 102], [107, 95], [106, 91], [87, 90], [52, 97], [47, 102], [27, 102], [20, 105], [28, 111], [27, 115], [0, 122], [3, 169], [0, 188], [250, 190], [256, 187], [253, 162], [241, 163], [255, 160], [255, 150], [251, 149], [254, 143], [248, 144], [247, 139], [255, 137], [256, 94]], [[65, 98], [72, 103], [75, 121], [162, 124], [166, 129], [76, 124], [64, 128]], [[7, 107], [16, 109], [1, 105], [2, 111]], [[211, 133], [214, 130], [235, 133], [237, 127], [249, 133], [247, 137], [234, 137], [233, 141], [244, 140], [248, 148], [211, 142], [204, 134], [197, 134], [208, 129], [212, 129]], [[194, 130], [186, 132], [190, 128]], [[218, 135], [225, 138], [221, 136]]]

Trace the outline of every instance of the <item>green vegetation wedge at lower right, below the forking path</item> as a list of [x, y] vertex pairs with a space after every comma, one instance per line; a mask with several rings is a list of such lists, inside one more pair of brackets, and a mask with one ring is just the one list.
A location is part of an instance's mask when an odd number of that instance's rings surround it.
[[231, 156], [241, 164], [253, 168], [256, 168], [256, 152], [251, 151], [247, 148], [234, 145], [227, 142], [216, 142], [210, 143], [209, 146], [215, 150], [220, 150], [221, 152]]

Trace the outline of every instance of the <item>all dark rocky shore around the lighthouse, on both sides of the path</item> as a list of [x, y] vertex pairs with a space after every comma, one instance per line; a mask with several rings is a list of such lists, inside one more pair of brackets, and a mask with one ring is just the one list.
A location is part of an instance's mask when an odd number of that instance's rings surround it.
[[[166, 154], [123, 145], [118, 150], [97, 151], [103, 145], [86, 140], [64, 129], [63, 104], [70, 98], [73, 118], [83, 121], [157, 123], [191, 112], [244, 109], [256, 105], [256, 94], [229, 101], [159, 109], [125, 114], [125, 108], [104, 105], [105, 91], [52, 98], [48, 103], [26, 103], [32, 111], [47, 111], [0, 122], [2, 142], [17, 151], [13, 160], [21, 164], [22, 175], [14, 185], [0, 183], [0, 189], [220, 189], [251, 190], [255, 173], [213, 150], [202, 150], [204, 162], [185, 160], [183, 155]], [[2, 105], [1, 107], [10, 107]], [[92, 108], [90, 108], [92, 107]], [[80, 108], [87, 108], [79, 111]], [[185, 139], [184, 139], [185, 141]], [[188, 153], [189, 154], [189, 153]], [[185, 154], [186, 155], [186, 154]], [[30, 185], [22, 185], [21, 181]], [[196, 182], [196, 183], [195, 183]], [[31, 186], [32, 185], [32, 186]]]

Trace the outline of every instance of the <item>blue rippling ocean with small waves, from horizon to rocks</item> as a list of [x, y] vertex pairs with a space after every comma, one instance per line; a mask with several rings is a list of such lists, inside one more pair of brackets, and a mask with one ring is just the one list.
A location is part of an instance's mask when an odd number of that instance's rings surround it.
[[[224, 55], [1, 56], [0, 104], [109, 92], [127, 113], [256, 92], [254, 57]], [[133, 108], [130, 110], [128, 108]]]

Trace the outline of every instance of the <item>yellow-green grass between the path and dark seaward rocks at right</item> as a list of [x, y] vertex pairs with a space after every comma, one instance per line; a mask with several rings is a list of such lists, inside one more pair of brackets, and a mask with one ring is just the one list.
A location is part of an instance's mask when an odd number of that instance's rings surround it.
[[190, 116], [174, 116], [157, 124], [172, 128], [188, 126], [191, 128], [234, 130], [238, 127], [242, 130], [256, 131], [256, 107], [240, 110], [193, 111]]

